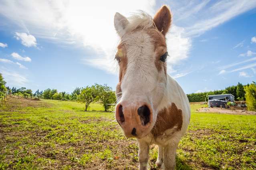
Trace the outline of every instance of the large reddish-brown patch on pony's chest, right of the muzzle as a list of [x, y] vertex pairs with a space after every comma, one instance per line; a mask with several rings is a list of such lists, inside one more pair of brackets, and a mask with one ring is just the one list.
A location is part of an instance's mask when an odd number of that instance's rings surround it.
[[158, 112], [157, 120], [151, 130], [151, 133], [156, 137], [163, 134], [165, 130], [171, 129], [174, 126], [177, 126], [176, 130], [181, 130], [182, 123], [182, 110], [178, 109], [175, 103], [171, 103], [171, 106]]

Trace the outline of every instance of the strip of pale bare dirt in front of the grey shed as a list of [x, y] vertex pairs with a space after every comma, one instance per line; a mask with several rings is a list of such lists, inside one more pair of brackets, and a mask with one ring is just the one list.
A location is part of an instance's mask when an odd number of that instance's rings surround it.
[[197, 112], [204, 112], [204, 113], [229, 113], [232, 115], [256, 115], [256, 112], [252, 111], [243, 111], [241, 109], [235, 108], [233, 111], [231, 109], [226, 109], [226, 108], [219, 108], [219, 107], [204, 107], [197, 109]]

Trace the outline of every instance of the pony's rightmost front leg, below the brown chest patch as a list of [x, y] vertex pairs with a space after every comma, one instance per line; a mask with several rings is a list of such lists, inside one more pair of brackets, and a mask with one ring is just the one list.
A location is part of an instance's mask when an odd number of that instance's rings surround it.
[[178, 144], [168, 144], [164, 147], [163, 165], [165, 170], [174, 170], [177, 146]]

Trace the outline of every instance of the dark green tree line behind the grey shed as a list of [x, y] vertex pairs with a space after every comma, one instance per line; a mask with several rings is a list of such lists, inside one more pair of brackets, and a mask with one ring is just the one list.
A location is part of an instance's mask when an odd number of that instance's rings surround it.
[[202, 102], [202, 101], [208, 101], [209, 95], [222, 95], [222, 94], [232, 94], [235, 97], [236, 101], [245, 101], [246, 97], [246, 91], [245, 88], [249, 86], [242, 85], [242, 83], [239, 83], [237, 85], [226, 87], [224, 90], [214, 90], [214, 91], [207, 91], [202, 93], [191, 93], [187, 94], [187, 98], [189, 102]]

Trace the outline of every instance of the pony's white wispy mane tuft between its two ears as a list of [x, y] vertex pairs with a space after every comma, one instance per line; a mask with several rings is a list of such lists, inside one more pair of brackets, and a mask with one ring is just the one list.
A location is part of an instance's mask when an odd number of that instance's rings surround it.
[[132, 16], [127, 18], [129, 24], [125, 28], [125, 33], [133, 32], [135, 30], [146, 30], [149, 28], [155, 28], [153, 18], [144, 11], [134, 13]]

